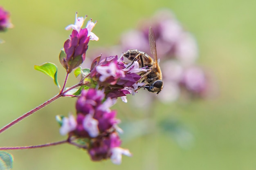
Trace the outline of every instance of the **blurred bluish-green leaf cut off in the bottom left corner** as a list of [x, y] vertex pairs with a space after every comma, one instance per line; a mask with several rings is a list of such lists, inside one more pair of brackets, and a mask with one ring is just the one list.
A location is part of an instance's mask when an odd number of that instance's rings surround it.
[[0, 170], [10, 170], [13, 164], [13, 157], [8, 152], [0, 151]]

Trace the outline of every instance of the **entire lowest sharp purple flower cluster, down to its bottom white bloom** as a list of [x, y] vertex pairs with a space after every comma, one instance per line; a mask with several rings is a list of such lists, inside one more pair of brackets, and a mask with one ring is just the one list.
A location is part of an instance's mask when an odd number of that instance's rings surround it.
[[90, 88], [82, 91], [76, 102], [76, 117], [70, 115], [63, 118], [61, 135], [68, 134], [76, 139], [87, 139], [86, 148], [93, 161], [111, 159], [113, 163], [121, 163], [121, 155], [131, 153], [120, 148], [121, 140], [116, 131], [120, 122], [116, 111], [110, 110], [116, 99], [105, 98], [102, 90]]

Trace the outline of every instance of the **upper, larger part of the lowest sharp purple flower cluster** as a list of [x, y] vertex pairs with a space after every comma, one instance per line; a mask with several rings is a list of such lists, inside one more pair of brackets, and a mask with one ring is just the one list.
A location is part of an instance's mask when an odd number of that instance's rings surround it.
[[107, 98], [101, 90], [89, 89], [82, 91], [76, 102], [77, 118], [73, 116], [63, 119], [61, 135], [74, 135], [76, 137], [94, 138], [101, 134], [115, 130], [119, 119], [116, 111], [110, 110], [115, 99]]

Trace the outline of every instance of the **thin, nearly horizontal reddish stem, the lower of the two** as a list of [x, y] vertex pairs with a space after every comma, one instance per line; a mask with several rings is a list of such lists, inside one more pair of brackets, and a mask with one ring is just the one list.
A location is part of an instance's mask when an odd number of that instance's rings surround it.
[[35, 146], [0, 147], [0, 150], [21, 150], [21, 149], [44, 148], [48, 146], [55, 146], [55, 145], [60, 145], [65, 143], [69, 143], [67, 139], [63, 141], [57, 141], [57, 142], [47, 143], [43, 145], [35, 145]]

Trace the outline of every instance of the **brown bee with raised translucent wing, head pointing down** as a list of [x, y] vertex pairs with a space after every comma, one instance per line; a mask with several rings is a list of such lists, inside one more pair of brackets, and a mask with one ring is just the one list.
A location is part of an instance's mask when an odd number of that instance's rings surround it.
[[137, 61], [139, 63], [139, 68], [146, 67], [150, 69], [150, 71], [144, 73], [144, 75], [141, 75], [141, 82], [145, 82], [145, 85], [142, 87], [146, 88], [150, 92], [157, 92], [158, 94], [160, 91], [162, 91], [164, 84], [162, 81], [162, 72], [157, 63], [155, 35], [151, 27], [149, 27], [148, 39], [150, 52], [154, 56], [154, 60], [148, 54], [138, 50], [128, 50], [123, 53], [123, 56], [128, 60], [131, 60], [132, 63]]

